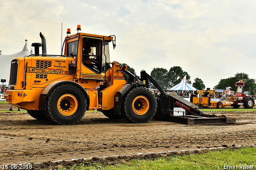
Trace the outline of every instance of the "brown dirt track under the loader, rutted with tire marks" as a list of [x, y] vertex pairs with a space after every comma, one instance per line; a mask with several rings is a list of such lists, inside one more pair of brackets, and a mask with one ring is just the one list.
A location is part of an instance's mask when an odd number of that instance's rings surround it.
[[0, 113], [0, 165], [45, 162], [33, 165], [44, 169], [51, 164], [47, 161], [62, 159], [256, 144], [255, 111], [214, 114], [236, 118], [236, 123], [183, 125], [152, 119], [133, 124], [86, 112], [82, 121], [64, 126], [37, 121], [26, 111]]

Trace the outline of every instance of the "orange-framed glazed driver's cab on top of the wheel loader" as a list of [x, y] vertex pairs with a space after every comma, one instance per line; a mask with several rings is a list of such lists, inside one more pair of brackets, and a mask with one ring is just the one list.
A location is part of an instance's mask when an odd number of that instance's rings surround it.
[[[86, 33], [66, 37], [64, 54], [76, 60], [76, 78], [102, 80], [102, 76], [110, 69], [108, 44], [111, 41], [113, 41], [112, 36]], [[92, 74], [97, 74], [97, 76], [92, 76]], [[106, 79], [106, 75], [104, 79]]]

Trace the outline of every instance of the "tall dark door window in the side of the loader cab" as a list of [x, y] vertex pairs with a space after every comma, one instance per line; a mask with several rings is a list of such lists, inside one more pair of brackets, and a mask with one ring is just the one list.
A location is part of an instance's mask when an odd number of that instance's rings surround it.
[[83, 38], [82, 63], [95, 73], [102, 72], [102, 41], [92, 38]]

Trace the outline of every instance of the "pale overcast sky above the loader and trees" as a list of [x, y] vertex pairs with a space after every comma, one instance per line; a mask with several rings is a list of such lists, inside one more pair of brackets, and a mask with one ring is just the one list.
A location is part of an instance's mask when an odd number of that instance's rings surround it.
[[41, 42], [40, 32], [47, 53], [60, 54], [61, 23], [63, 39], [78, 24], [81, 32], [116, 35], [110, 61], [137, 75], [180, 66], [211, 89], [236, 73], [256, 79], [255, 0], [1, 0], [2, 55], [21, 51], [25, 39]]

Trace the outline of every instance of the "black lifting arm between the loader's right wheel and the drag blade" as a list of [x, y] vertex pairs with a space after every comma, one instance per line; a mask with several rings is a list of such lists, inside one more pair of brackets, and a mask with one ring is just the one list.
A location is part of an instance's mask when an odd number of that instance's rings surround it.
[[148, 80], [149, 80], [156, 87], [156, 89], [158, 89], [158, 91], [160, 92], [160, 95], [156, 99], [157, 105], [158, 105], [156, 113], [161, 115], [167, 115], [168, 114], [168, 110], [167, 110], [168, 97], [165, 95], [162, 88], [148, 73], [146, 73], [145, 70], [142, 70], [140, 72], [140, 80], [146, 85], [147, 88], [149, 87], [148, 85]]

